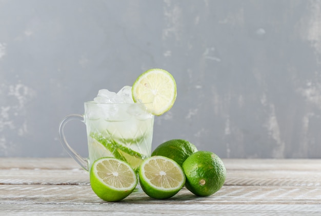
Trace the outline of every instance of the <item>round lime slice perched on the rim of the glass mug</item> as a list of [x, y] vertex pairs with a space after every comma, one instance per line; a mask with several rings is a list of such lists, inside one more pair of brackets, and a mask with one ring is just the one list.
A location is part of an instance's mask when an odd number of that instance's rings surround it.
[[134, 102], [146, 104], [147, 111], [159, 116], [169, 111], [176, 100], [176, 82], [164, 69], [149, 69], [132, 86]]

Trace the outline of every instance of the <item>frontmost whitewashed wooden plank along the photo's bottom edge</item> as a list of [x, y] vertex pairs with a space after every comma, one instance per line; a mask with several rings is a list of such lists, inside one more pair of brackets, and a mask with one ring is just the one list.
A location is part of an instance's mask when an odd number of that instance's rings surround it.
[[316, 205], [1, 204], [4, 215], [320, 215]]

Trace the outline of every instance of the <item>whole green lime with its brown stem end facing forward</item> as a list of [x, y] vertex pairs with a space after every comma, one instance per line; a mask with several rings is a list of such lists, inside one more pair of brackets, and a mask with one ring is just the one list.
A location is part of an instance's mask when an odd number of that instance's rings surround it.
[[225, 182], [223, 161], [212, 152], [195, 152], [184, 161], [182, 168], [186, 175], [185, 187], [198, 196], [214, 194]]

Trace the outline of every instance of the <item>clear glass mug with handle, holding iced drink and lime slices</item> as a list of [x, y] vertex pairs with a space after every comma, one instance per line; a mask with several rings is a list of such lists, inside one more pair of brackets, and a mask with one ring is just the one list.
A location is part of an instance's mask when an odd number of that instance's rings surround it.
[[[72, 149], [65, 137], [64, 127], [70, 120], [86, 124], [88, 158]], [[126, 161], [135, 171], [149, 157], [152, 147], [154, 116], [144, 103], [85, 102], [85, 114], [66, 116], [59, 125], [59, 139], [68, 154], [86, 171], [101, 157]]]

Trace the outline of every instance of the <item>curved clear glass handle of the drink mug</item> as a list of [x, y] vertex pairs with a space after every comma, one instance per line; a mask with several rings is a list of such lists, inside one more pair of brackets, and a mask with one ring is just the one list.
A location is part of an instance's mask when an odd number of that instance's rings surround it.
[[84, 116], [79, 115], [79, 114], [71, 114], [66, 116], [60, 123], [59, 125], [59, 139], [64, 147], [64, 149], [67, 151], [67, 153], [80, 165], [84, 170], [87, 172], [89, 171], [88, 169], [88, 160], [81, 155], [79, 155], [73, 148], [71, 148], [66, 140], [65, 133], [64, 133], [64, 128], [65, 125], [68, 121], [70, 120], [79, 120], [84, 122]]

